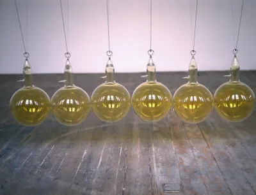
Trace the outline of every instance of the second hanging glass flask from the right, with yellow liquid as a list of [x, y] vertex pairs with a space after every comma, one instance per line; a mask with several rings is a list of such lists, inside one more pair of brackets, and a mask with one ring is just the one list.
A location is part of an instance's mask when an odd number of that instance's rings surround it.
[[189, 75], [184, 77], [188, 83], [179, 87], [173, 96], [173, 108], [184, 122], [198, 123], [207, 118], [213, 108], [211, 92], [197, 82], [197, 65], [192, 56], [189, 64]]

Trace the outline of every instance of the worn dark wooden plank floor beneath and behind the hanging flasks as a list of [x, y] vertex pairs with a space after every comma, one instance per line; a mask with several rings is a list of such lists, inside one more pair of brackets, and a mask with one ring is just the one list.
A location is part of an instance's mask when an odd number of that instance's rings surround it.
[[[227, 81], [224, 72], [200, 72], [212, 94]], [[132, 94], [143, 74], [116, 74]], [[93, 89], [104, 80], [76, 75], [76, 85]], [[158, 73], [174, 94], [186, 73]], [[256, 112], [231, 123], [212, 111], [200, 124], [186, 124], [170, 111], [159, 122], [143, 122], [132, 109], [120, 122], [101, 122], [90, 112], [83, 124], [61, 126], [49, 116], [22, 127], [8, 104], [21, 75], [0, 76], [0, 194], [255, 194]], [[63, 75], [34, 75], [51, 97]], [[241, 72], [256, 92], [256, 71]]]

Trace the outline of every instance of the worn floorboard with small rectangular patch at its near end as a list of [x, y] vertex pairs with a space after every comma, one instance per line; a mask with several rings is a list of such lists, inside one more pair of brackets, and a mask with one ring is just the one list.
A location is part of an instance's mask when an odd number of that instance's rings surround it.
[[173, 147], [167, 117], [152, 123], [153, 152], [159, 194], [180, 192], [179, 167]]

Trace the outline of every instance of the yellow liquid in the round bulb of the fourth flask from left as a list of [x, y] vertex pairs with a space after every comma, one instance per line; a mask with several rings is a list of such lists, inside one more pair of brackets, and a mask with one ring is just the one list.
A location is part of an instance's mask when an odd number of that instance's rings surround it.
[[132, 108], [140, 119], [163, 119], [172, 107], [172, 95], [162, 83], [145, 82], [132, 94]]

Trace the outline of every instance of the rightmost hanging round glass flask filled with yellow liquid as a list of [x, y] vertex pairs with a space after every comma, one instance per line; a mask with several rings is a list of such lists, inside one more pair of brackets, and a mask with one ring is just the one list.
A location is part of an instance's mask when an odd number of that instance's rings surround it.
[[214, 108], [226, 120], [238, 122], [253, 112], [255, 96], [248, 85], [239, 81], [239, 62], [236, 55], [230, 68], [229, 82], [223, 83], [214, 94]]

